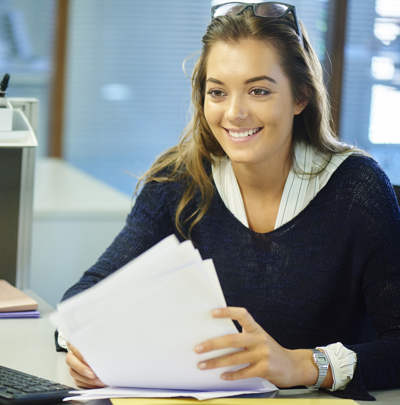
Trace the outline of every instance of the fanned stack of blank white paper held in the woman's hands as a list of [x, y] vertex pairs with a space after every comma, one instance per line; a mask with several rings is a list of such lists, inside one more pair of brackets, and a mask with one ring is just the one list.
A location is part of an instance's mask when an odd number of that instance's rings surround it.
[[[51, 320], [109, 386], [196, 391], [266, 392], [262, 378], [225, 381], [196, 365], [237, 349], [196, 354], [194, 347], [238, 333], [232, 320], [215, 319], [226, 307], [212, 260], [174, 235], [95, 286], [63, 301]], [[132, 395], [137, 396], [137, 395]], [[218, 395], [219, 396], [219, 395]]]

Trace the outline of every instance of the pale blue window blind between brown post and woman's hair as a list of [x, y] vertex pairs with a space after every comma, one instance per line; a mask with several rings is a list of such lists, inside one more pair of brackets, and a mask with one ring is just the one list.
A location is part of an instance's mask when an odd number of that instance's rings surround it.
[[209, 1], [71, 1], [64, 156], [132, 194], [155, 157], [177, 144]]

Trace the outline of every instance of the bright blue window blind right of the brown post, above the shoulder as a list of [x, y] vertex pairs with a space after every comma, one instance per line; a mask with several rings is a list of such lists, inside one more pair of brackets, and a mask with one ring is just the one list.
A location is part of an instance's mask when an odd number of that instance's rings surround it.
[[349, 0], [340, 132], [400, 184], [400, 0]]

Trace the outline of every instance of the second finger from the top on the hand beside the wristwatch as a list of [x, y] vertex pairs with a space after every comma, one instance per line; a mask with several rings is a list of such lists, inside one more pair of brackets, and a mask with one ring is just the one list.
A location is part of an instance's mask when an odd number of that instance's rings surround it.
[[225, 349], [226, 347], [252, 347], [262, 343], [266, 343], [266, 333], [233, 333], [210, 339], [204, 343], [200, 343], [194, 348], [196, 353], [211, 352], [211, 350]]

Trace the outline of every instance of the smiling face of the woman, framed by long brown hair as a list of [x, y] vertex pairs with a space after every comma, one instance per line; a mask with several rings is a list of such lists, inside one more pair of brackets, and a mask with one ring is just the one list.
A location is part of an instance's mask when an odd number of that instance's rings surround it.
[[293, 117], [301, 107], [270, 45], [249, 40], [211, 47], [204, 114], [232, 162], [286, 158]]

